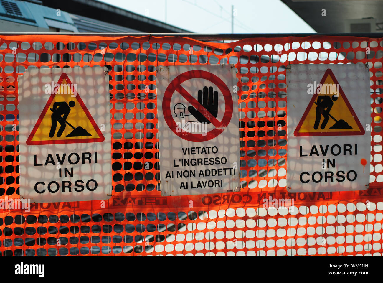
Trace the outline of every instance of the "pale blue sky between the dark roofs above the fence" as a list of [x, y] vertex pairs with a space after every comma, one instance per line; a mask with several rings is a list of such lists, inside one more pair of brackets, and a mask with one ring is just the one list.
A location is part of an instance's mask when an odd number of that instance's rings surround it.
[[[98, 0], [195, 33], [316, 33], [280, 0]], [[165, 5], [166, 4], [166, 5]]]

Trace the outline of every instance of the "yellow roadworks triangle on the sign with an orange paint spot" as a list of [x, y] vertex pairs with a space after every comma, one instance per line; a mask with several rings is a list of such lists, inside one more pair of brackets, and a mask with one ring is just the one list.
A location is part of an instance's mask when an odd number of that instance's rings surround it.
[[364, 135], [357, 115], [334, 73], [327, 69], [294, 131], [296, 137]]

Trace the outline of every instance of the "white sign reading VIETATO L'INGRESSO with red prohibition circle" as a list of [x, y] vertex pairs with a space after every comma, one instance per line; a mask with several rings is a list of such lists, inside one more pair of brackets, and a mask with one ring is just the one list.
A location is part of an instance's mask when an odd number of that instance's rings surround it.
[[234, 66], [158, 66], [156, 83], [161, 195], [240, 191]]

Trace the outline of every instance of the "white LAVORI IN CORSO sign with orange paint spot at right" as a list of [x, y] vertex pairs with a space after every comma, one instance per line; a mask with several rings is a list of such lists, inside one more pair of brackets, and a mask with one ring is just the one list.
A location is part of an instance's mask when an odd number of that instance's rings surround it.
[[363, 64], [291, 64], [286, 80], [288, 191], [368, 189], [368, 69]]

